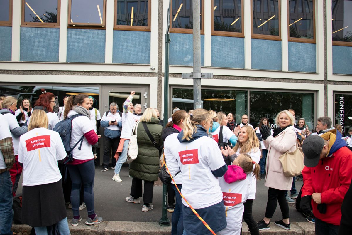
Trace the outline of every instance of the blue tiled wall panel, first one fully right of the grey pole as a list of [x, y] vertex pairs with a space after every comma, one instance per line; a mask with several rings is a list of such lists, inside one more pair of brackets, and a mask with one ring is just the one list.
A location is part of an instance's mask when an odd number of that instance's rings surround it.
[[212, 67], [244, 68], [244, 38], [212, 36]]

